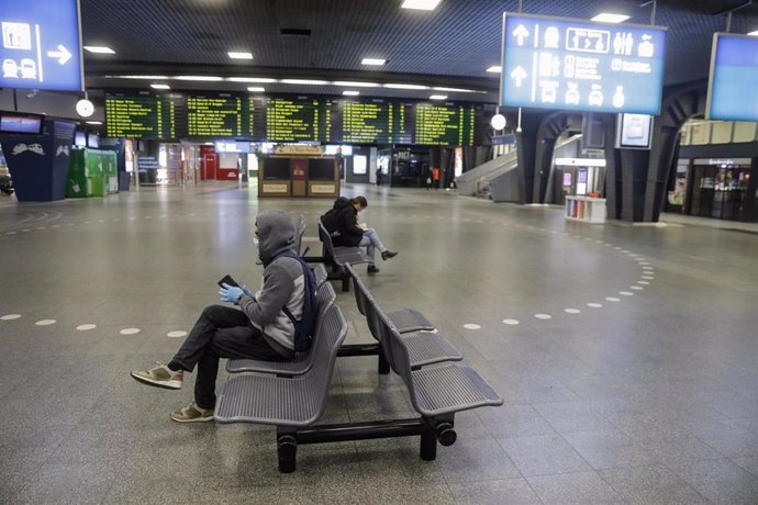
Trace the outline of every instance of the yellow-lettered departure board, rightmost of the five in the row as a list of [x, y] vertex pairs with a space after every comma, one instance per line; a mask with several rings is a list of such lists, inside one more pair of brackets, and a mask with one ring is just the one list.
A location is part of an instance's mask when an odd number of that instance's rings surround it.
[[415, 108], [415, 144], [472, 146], [475, 112], [470, 105], [426, 105]]

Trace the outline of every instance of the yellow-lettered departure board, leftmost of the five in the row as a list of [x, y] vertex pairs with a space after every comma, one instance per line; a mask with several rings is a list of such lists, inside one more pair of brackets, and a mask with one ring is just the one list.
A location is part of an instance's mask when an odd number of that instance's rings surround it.
[[177, 138], [175, 104], [161, 97], [105, 96], [109, 137]]

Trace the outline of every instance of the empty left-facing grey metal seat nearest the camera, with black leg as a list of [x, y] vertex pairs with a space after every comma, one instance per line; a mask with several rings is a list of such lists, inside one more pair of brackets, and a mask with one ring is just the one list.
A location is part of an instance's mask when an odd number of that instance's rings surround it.
[[313, 360], [319, 363], [302, 375], [236, 375], [220, 389], [213, 417], [218, 423], [257, 423], [277, 426], [279, 471], [296, 469], [299, 428], [315, 423], [324, 412], [337, 349], [347, 335], [347, 322], [337, 305], [324, 314], [313, 341]]

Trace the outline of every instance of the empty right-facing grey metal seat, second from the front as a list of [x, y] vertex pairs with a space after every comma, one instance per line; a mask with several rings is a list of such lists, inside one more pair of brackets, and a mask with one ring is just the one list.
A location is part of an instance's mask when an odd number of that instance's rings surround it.
[[[347, 271], [353, 278], [353, 290], [355, 291], [355, 302], [358, 311], [366, 317], [366, 324], [374, 338], [379, 341], [379, 372], [387, 373], [387, 344], [382, 340], [383, 334], [381, 330], [383, 323], [394, 327], [394, 323], [386, 314], [377, 301], [371, 296], [366, 284], [358, 277], [355, 270], [347, 265]], [[441, 361], [460, 361], [464, 357], [460, 355], [453, 344], [450, 344], [443, 335], [432, 332], [410, 332], [401, 335], [410, 349], [411, 368], [416, 369], [425, 364], [438, 363]]]

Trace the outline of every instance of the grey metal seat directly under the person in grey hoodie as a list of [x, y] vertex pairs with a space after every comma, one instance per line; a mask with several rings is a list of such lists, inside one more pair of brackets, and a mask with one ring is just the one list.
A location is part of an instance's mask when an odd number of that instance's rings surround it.
[[[317, 279], [317, 276], [316, 276]], [[326, 310], [334, 304], [337, 294], [328, 282], [324, 282], [316, 291], [316, 330], [311, 347], [304, 352], [299, 352], [294, 360], [266, 361], [263, 359], [230, 359], [226, 361], [226, 371], [230, 373], [258, 372], [275, 373], [280, 377], [301, 375], [313, 367], [315, 340], [323, 333]]]

